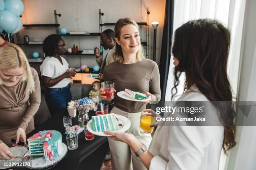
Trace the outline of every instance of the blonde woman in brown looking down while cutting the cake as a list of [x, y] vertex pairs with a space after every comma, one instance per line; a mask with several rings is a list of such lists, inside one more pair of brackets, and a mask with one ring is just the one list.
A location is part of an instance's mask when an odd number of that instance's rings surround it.
[[40, 82], [35, 69], [17, 45], [0, 47], [0, 160], [16, 158], [11, 139], [26, 143], [34, 129], [33, 116], [40, 102]]

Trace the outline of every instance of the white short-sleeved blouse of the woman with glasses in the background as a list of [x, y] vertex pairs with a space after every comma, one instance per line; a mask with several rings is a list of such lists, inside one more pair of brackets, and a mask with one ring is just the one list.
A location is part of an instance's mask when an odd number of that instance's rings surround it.
[[[44, 75], [46, 77], [51, 77], [54, 79], [63, 75], [64, 72], [67, 72], [69, 68], [69, 63], [65, 60], [65, 58], [61, 57], [62, 63], [55, 57], [46, 57], [44, 62], [40, 66], [41, 76]], [[49, 88], [62, 88], [66, 87], [71, 82], [70, 78], [64, 78], [56, 85], [51, 86]]]

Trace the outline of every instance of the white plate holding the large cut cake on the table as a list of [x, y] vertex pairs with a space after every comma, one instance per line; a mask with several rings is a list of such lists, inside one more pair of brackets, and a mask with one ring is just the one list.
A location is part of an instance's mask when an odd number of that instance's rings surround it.
[[[33, 170], [40, 170], [40, 169], [49, 168], [49, 167], [56, 165], [67, 155], [68, 148], [65, 143], [62, 143], [62, 148], [63, 148], [62, 153], [56, 160], [51, 160], [51, 161], [45, 162], [44, 158], [38, 158], [35, 160], [28, 161], [31, 164], [29, 166], [27, 166], [27, 168], [33, 169]], [[27, 152], [23, 157], [25, 157], [27, 155], [29, 155], [29, 152]]]

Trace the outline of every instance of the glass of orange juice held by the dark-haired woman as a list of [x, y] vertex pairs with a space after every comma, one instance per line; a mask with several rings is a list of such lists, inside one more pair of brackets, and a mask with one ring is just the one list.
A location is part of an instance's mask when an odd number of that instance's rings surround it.
[[154, 127], [150, 127], [151, 124], [156, 122], [156, 116], [147, 115], [147, 112], [141, 113], [140, 130], [143, 133], [152, 133]]

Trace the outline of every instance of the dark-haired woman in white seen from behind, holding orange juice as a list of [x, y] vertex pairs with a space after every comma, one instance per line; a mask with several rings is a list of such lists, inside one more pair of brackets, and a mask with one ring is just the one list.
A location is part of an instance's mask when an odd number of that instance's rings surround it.
[[[218, 169], [222, 148], [226, 153], [236, 145], [236, 114], [232, 105], [224, 107], [213, 102], [232, 101], [226, 72], [229, 45], [230, 33], [221, 23], [200, 19], [191, 20], [175, 31], [172, 49], [175, 65], [172, 97], [177, 94], [181, 72], [185, 72], [184, 93], [178, 101], [210, 101], [210, 114], [222, 125], [170, 126], [169, 122], [161, 122], [148, 150], [131, 133], [105, 134], [130, 145], [150, 170]], [[144, 112], [156, 115], [153, 110]], [[165, 117], [170, 115], [167, 113]]]

